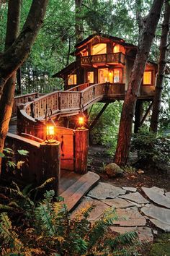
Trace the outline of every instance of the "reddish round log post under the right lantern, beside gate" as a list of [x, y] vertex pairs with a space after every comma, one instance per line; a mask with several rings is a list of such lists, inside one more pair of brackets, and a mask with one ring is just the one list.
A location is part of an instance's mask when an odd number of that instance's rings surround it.
[[89, 146], [89, 130], [76, 129], [74, 143], [74, 171], [79, 174], [87, 172], [87, 153]]

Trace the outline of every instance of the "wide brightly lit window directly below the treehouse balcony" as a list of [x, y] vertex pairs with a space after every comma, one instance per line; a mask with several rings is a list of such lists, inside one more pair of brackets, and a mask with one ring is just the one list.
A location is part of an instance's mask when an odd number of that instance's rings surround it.
[[122, 69], [99, 69], [99, 83], [122, 82]]

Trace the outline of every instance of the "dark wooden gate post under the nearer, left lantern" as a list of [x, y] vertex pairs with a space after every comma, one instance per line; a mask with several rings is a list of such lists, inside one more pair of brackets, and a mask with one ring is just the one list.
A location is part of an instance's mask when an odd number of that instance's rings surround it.
[[55, 190], [55, 195], [58, 196], [58, 189], [61, 176], [61, 154], [60, 142], [54, 143], [42, 142], [40, 145], [40, 155], [42, 163], [42, 173], [40, 179], [45, 182], [46, 179], [55, 178], [55, 182], [51, 189]]

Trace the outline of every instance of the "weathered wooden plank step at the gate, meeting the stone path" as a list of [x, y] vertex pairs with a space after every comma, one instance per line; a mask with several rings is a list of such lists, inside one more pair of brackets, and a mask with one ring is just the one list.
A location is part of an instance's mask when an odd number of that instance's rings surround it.
[[81, 197], [89, 192], [89, 189], [94, 187], [99, 179], [100, 177], [98, 174], [88, 171], [87, 174], [81, 176], [77, 182], [61, 193], [60, 196], [64, 198], [64, 203], [66, 203], [68, 210], [72, 210]]

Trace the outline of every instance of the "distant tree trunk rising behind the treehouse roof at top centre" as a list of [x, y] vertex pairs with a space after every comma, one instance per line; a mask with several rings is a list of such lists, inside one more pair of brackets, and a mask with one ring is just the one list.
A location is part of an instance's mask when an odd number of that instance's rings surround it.
[[80, 43], [83, 38], [83, 23], [81, 20], [81, 7], [83, 0], [75, 0], [75, 30], [76, 30], [76, 43]]

